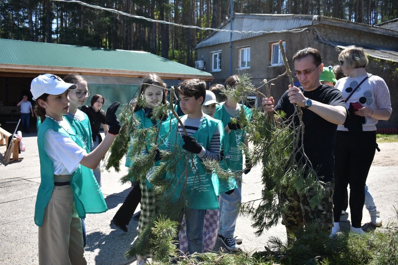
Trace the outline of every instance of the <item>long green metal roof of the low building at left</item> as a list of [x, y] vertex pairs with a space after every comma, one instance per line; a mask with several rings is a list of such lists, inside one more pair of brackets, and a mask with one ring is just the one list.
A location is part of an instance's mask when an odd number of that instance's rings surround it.
[[0, 64], [212, 76], [207, 72], [142, 51], [10, 39], [0, 39]]

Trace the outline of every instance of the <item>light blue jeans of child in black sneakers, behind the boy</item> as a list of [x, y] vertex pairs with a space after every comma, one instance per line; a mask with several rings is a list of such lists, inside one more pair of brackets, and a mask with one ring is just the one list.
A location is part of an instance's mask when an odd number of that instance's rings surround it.
[[[238, 181], [236, 181], [238, 182]], [[242, 186], [235, 189], [233, 193], [227, 195], [220, 194], [220, 222], [219, 234], [226, 238], [233, 238], [238, 219], [237, 205], [242, 202]]]

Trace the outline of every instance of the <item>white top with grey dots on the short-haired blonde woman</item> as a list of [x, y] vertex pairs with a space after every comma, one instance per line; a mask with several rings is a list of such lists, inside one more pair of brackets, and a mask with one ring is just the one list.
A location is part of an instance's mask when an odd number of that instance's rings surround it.
[[[335, 87], [343, 93], [343, 97], [346, 99], [365, 77], [366, 76], [341, 78], [336, 82]], [[349, 108], [350, 102], [359, 102], [363, 107], [372, 109], [386, 109], [390, 113], [392, 111], [390, 92], [386, 82], [384, 82], [380, 76], [371, 76], [365, 80], [346, 102], [347, 109]], [[376, 131], [376, 123], [378, 120], [370, 116], [365, 117], [365, 120], [366, 122], [362, 125], [362, 130]], [[344, 125], [338, 125], [337, 130], [348, 131]]]

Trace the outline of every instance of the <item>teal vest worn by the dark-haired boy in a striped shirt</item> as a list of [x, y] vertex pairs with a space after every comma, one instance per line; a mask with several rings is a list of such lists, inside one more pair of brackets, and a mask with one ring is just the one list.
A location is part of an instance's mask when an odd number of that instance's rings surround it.
[[[177, 144], [179, 148], [183, 150], [182, 145], [184, 144], [184, 141], [181, 138], [181, 135], [177, 132], [177, 127], [177, 121], [173, 120], [171, 131], [169, 134], [170, 151], [174, 150], [175, 144]], [[199, 129], [192, 136], [197, 140], [199, 144], [208, 149], [210, 146], [211, 138], [217, 127], [220, 131], [220, 139], [222, 139], [224, 136], [222, 123], [213, 119], [209, 115], [205, 115], [205, 119], [202, 120]], [[187, 186], [183, 194], [185, 196], [185, 199], [188, 200], [188, 207], [192, 209], [218, 209], [218, 177], [212, 172], [207, 172], [208, 170], [205, 169], [201, 162], [201, 158], [199, 158], [197, 154], [192, 154], [192, 156], [193, 161], [191, 160], [190, 156], [188, 156], [188, 152], [186, 152], [185, 158], [178, 158], [178, 156], [176, 156], [176, 174], [171, 175], [170, 172], [166, 173], [166, 179], [170, 179], [171, 181], [173, 181], [171, 191], [174, 189], [174, 187], [176, 187], [172, 195], [172, 201], [177, 201], [179, 199], [178, 197], [181, 193], [185, 178], [187, 178]], [[191, 168], [192, 163], [195, 164], [196, 169], [193, 168], [191, 171], [185, 172], [185, 169], [187, 167], [188, 170], [189, 168]], [[180, 177], [181, 180], [179, 181]]]

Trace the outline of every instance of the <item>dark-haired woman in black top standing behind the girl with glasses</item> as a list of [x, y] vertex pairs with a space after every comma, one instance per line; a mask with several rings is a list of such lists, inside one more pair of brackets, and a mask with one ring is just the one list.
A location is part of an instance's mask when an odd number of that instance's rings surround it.
[[[108, 133], [108, 125], [105, 123], [105, 111], [103, 111], [102, 106], [105, 103], [105, 99], [101, 95], [94, 95], [91, 98], [91, 106], [82, 106], [80, 109], [84, 113], [87, 114], [88, 119], [90, 119], [90, 126], [92, 132], [92, 140], [93, 140], [93, 148], [97, 148], [97, 146], [102, 142], [102, 137], [100, 134], [100, 127], [102, 124], [103, 132], [106, 134]], [[97, 179], [98, 184], [100, 187], [102, 186], [101, 183], [101, 162], [98, 164], [98, 167], [93, 170], [94, 176]]]

